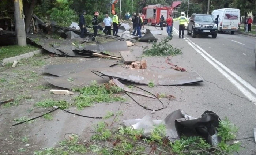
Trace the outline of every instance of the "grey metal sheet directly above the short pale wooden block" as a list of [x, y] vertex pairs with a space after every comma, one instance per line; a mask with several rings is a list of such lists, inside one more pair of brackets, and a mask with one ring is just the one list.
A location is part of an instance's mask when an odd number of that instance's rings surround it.
[[[100, 76], [95, 75], [91, 71], [98, 68], [87, 68], [81, 72], [71, 73], [64, 76], [49, 78], [45, 77], [45, 80], [50, 84], [66, 89], [72, 89], [75, 87], [84, 87], [86, 84], [91, 84], [94, 80], [97, 81], [98, 85], [104, 84], [109, 81], [108, 77], [101, 78]], [[72, 79], [72, 80], [71, 80]]]

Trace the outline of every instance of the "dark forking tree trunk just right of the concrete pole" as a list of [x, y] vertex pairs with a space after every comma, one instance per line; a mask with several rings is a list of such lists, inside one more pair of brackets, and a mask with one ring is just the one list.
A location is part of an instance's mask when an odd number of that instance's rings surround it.
[[23, 4], [25, 4], [26, 11], [24, 11], [25, 15], [25, 30], [29, 28], [30, 21], [32, 19], [33, 10], [35, 8], [35, 4], [37, 4], [38, 0], [32, 0], [30, 4], [27, 3], [26, 0], [23, 0]]

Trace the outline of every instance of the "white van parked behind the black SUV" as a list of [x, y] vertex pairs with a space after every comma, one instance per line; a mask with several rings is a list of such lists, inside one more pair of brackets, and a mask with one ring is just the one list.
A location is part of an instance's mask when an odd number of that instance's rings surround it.
[[230, 31], [234, 34], [240, 26], [240, 10], [232, 8], [223, 8], [212, 11], [212, 18], [218, 18], [218, 31]]

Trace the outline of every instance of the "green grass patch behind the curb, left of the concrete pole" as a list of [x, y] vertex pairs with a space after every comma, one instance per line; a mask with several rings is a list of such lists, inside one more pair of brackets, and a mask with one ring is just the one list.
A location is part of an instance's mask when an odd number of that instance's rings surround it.
[[29, 53], [31, 51], [38, 50], [38, 47], [27, 45], [25, 47], [20, 47], [17, 45], [1, 46], [0, 47], [0, 60], [4, 58], [9, 58], [13, 56], [18, 56], [20, 54]]

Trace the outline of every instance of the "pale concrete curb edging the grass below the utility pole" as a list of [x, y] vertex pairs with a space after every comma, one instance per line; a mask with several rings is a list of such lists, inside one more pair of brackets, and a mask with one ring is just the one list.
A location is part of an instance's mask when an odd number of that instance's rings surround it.
[[42, 53], [44, 53], [44, 49], [35, 50], [33, 52], [21, 54], [19, 56], [5, 58], [1, 61], [1, 65], [5, 66], [5, 64], [7, 64], [7, 63], [13, 63], [14, 61], [19, 61], [23, 58], [30, 58], [30, 57], [33, 57], [35, 54], [42, 54]]

